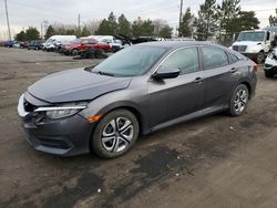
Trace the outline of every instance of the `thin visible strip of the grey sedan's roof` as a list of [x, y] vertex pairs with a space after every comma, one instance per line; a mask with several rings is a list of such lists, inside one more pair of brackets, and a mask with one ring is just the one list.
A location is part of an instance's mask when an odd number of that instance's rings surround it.
[[177, 49], [187, 45], [215, 45], [223, 48], [219, 44], [211, 43], [208, 41], [155, 41], [155, 42], [145, 42], [140, 43], [138, 45], [148, 45], [148, 46], [163, 46], [163, 48], [171, 48]]

